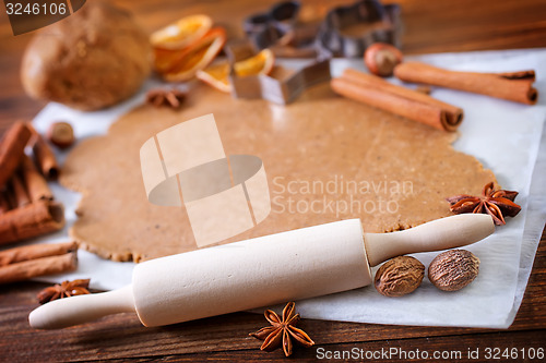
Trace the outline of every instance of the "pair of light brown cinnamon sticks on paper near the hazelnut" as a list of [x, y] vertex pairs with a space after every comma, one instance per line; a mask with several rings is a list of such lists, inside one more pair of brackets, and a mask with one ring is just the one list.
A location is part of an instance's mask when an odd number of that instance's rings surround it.
[[[526, 105], [534, 105], [538, 99], [538, 92], [533, 87], [535, 72], [532, 70], [512, 73], [455, 72], [418, 62], [403, 62], [394, 68], [394, 75], [404, 82], [460, 89]], [[455, 131], [463, 120], [463, 110], [456, 106], [356, 70], [345, 70], [341, 77], [331, 81], [331, 86], [342, 96], [439, 130]]]

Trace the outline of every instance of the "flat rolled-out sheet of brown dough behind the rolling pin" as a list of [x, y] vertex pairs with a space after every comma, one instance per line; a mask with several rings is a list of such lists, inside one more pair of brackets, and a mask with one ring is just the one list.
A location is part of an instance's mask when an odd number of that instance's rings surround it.
[[[264, 221], [225, 242], [347, 218], [360, 218], [367, 232], [406, 229], [449, 216], [447, 196], [479, 194], [495, 181], [452, 148], [454, 134], [337, 97], [328, 83], [286, 107], [195, 84], [181, 110], [139, 107], [71, 152], [61, 183], [83, 193], [72, 237], [114, 261], [195, 250], [183, 207], [147, 202], [139, 150], [157, 132], [206, 113], [214, 113], [226, 155], [263, 160], [273, 203]], [[319, 202], [306, 211], [312, 201]], [[335, 208], [336, 201], [353, 203], [353, 210]]]

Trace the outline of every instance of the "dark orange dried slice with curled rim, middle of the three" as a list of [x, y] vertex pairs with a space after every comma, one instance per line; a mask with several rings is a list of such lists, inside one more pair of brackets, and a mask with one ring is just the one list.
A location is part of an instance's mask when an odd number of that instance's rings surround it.
[[[215, 27], [175, 57], [175, 64], [169, 68], [164, 77], [169, 82], [187, 81], [195, 75], [195, 72], [204, 69], [211, 63], [226, 43], [226, 32], [221, 27]], [[156, 62], [157, 63], [157, 62]]]

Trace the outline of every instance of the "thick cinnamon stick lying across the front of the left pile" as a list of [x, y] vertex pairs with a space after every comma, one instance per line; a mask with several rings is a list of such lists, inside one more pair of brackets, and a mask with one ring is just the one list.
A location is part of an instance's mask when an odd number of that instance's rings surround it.
[[63, 226], [61, 204], [48, 201], [31, 203], [0, 215], [0, 244], [55, 232]]

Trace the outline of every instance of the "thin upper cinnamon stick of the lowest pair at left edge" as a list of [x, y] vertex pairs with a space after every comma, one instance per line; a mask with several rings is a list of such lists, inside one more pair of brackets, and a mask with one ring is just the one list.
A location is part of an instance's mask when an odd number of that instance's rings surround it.
[[0, 267], [28, 259], [63, 255], [76, 250], [76, 242], [41, 243], [4, 250], [0, 251]]

